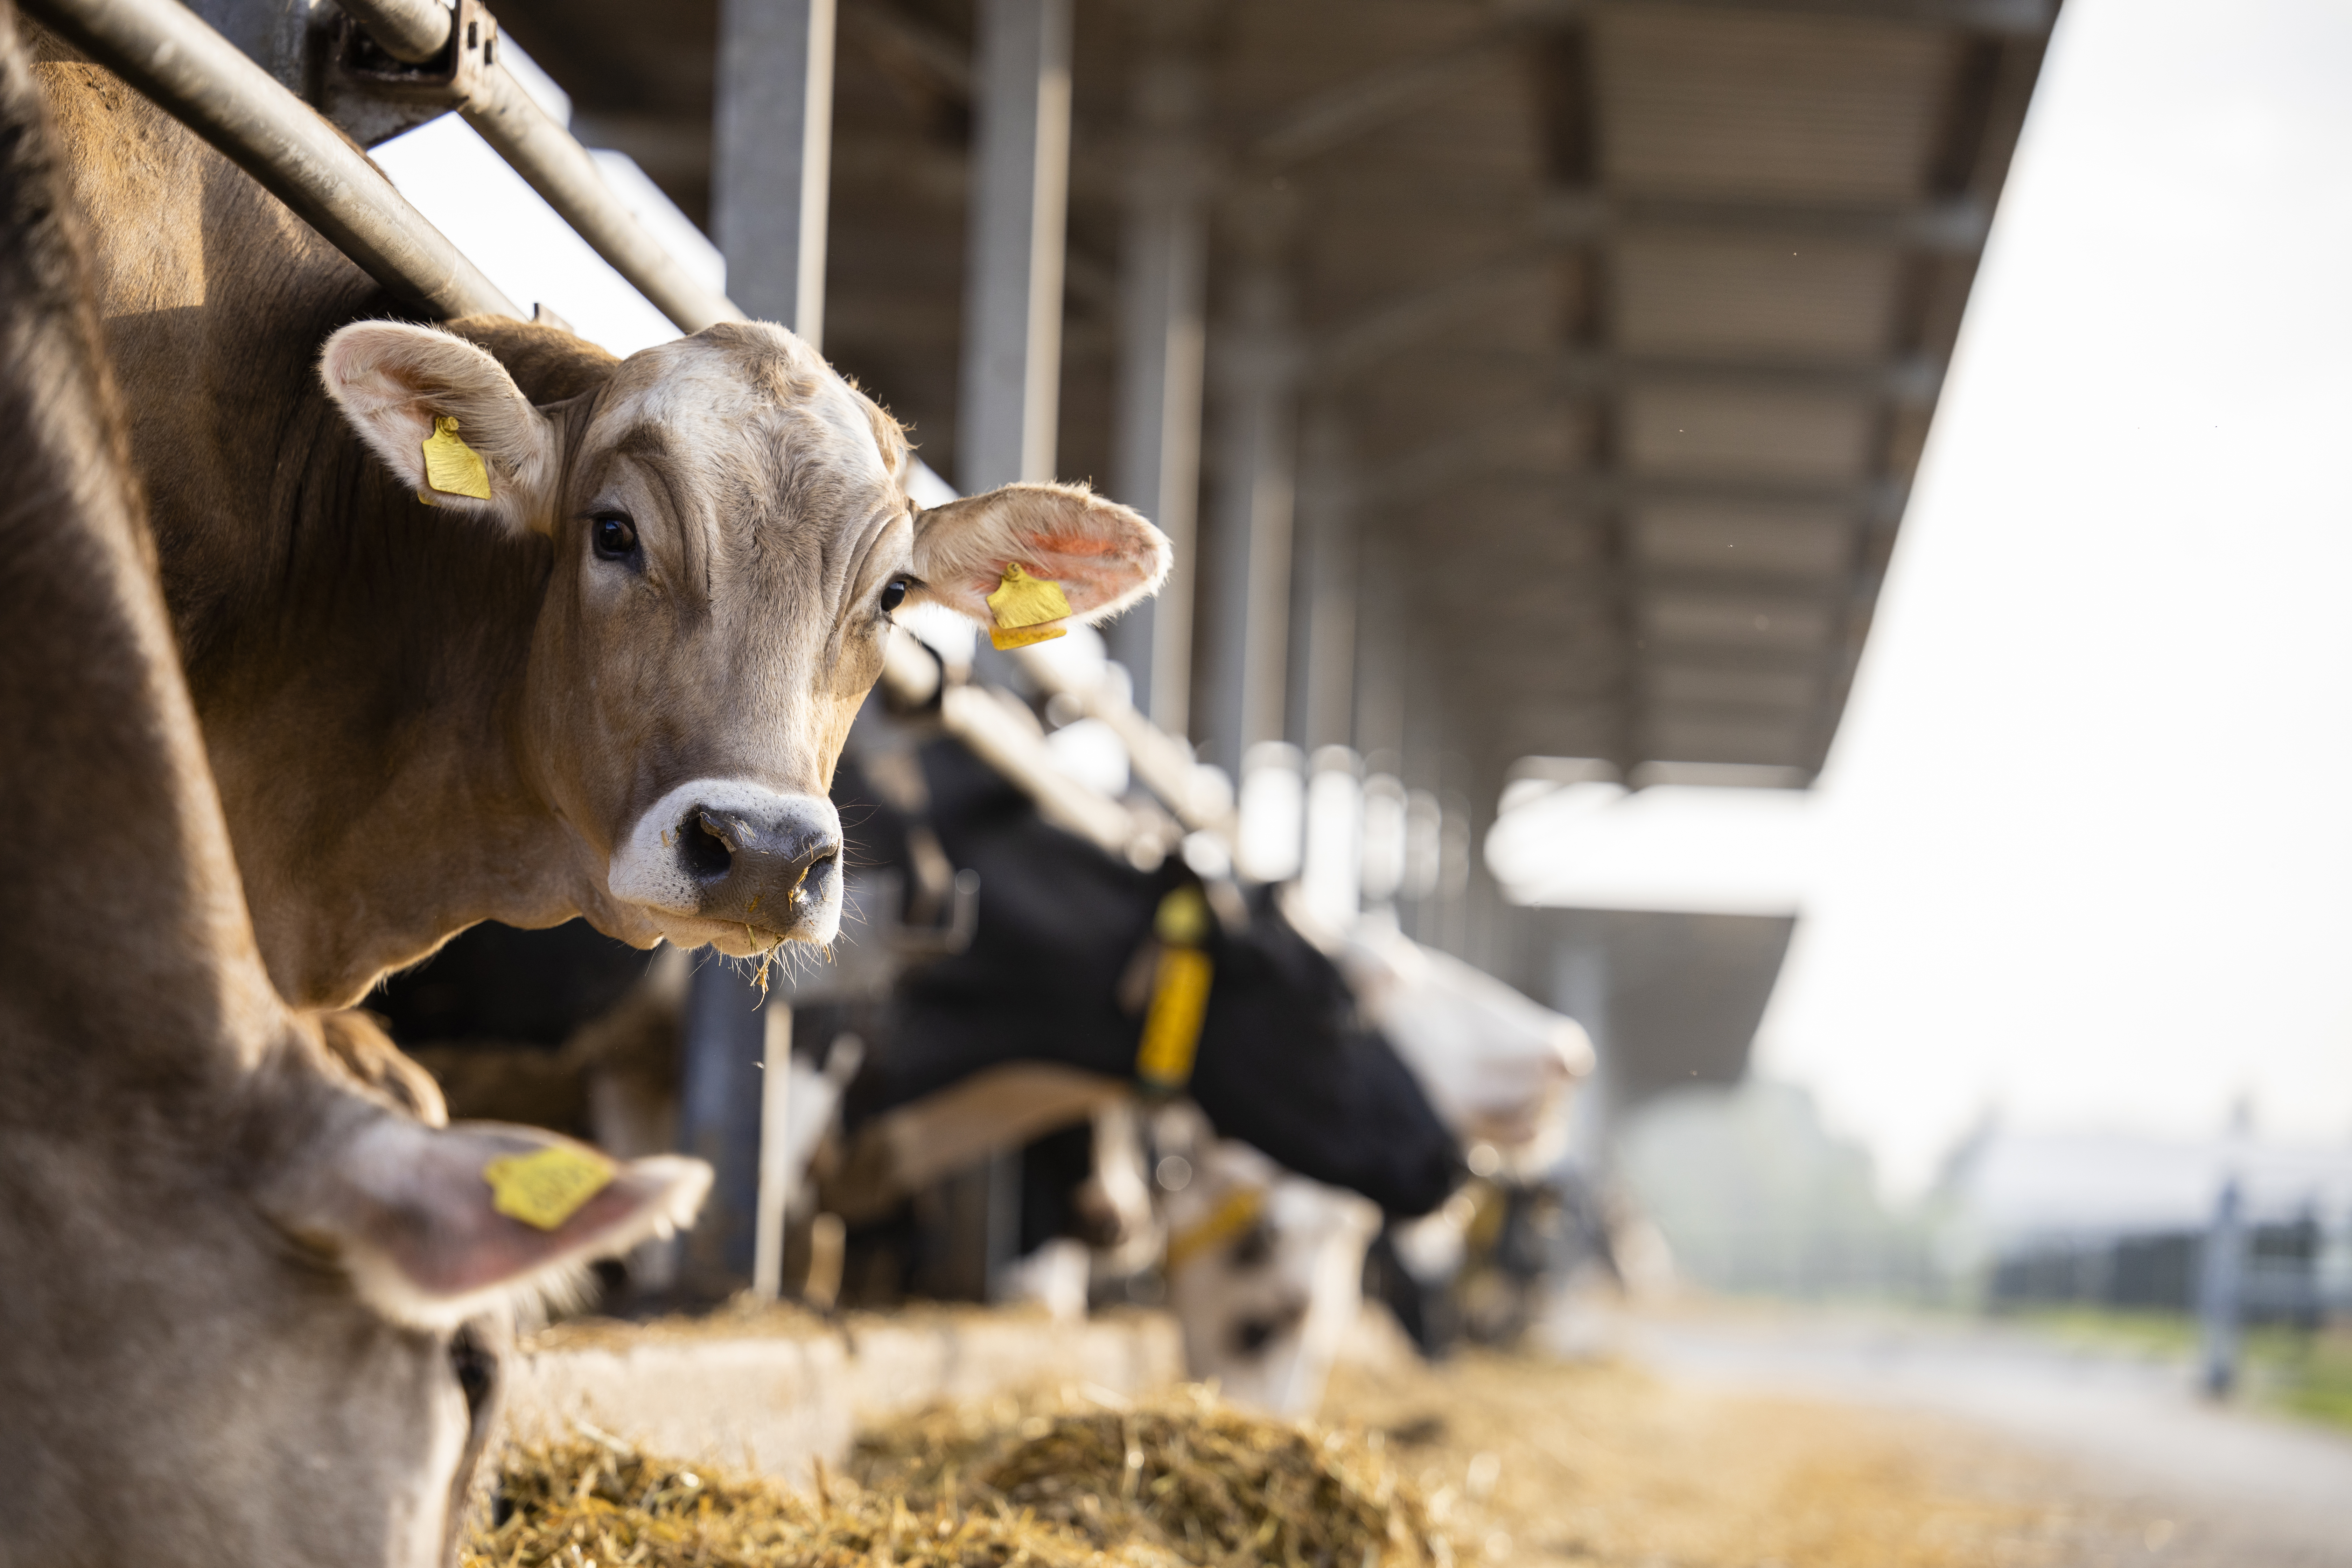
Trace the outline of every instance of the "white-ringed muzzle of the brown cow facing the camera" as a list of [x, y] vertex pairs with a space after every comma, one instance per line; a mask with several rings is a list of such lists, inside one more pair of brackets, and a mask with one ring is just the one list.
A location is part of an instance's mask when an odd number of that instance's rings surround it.
[[823, 795], [694, 778], [637, 816], [604, 884], [680, 947], [826, 945], [842, 926], [842, 818]]

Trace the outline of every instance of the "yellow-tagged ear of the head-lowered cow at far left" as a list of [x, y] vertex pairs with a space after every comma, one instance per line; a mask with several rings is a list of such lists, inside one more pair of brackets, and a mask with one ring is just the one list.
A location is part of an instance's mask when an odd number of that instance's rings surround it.
[[416, 1328], [569, 1302], [595, 1258], [691, 1225], [710, 1166], [616, 1161], [527, 1126], [423, 1126], [374, 1112], [320, 1140], [263, 1194], [292, 1237], [329, 1253], [360, 1298]]

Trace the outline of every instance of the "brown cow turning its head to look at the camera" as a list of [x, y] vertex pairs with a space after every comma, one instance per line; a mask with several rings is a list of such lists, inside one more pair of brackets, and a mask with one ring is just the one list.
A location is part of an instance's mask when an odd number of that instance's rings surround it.
[[[480, 919], [830, 940], [826, 785], [889, 611], [985, 621], [1018, 562], [1096, 621], [1167, 571], [1075, 487], [917, 512], [896, 423], [781, 327], [614, 362], [548, 327], [362, 320], [386, 299], [242, 172], [94, 66], [42, 73], [261, 952], [301, 1006]], [[419, 498], [437, 416], [489, 501]]]

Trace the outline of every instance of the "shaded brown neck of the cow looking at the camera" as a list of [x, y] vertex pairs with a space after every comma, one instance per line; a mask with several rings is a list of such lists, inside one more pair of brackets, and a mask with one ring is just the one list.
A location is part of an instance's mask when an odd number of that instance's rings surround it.
[[517, 762], [548, 550], [395, 491], [322, 395], [294, 425], [310, 484], [191, 689], [270, 976], [348, 1006], [477, 919], [576, 912]]

